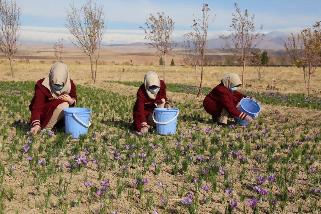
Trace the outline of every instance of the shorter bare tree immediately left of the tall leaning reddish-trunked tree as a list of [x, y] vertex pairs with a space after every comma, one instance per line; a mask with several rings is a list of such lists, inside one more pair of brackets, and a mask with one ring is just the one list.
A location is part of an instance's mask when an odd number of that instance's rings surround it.
[[197, 66], [199, 65], [199, 58], [201, 48], [198, 39], [193, 32], [183, 34], [184, 45], [182, 45], [184, 53], [184, 62], [187, 65], [195, 68], [195, 82], [197, 82]]

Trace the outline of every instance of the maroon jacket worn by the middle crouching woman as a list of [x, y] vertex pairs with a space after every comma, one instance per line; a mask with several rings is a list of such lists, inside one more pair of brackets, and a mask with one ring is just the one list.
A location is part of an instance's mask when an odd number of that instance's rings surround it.
[[156, 108], [155, 103], [162, 103], [161, 99], [165, 99], [165, 104], [169, 103], [166, 97], [166, 85], [164, 81], [160, 81], [160, 90], [156, 95], [156, 99], [152, 100], [148, 97], [145, 85], [142, 84], [137, 91], [137, 99], [133, 110], [132, 128], [140, 132], [141, 128], [147, 127], [147, 118]]

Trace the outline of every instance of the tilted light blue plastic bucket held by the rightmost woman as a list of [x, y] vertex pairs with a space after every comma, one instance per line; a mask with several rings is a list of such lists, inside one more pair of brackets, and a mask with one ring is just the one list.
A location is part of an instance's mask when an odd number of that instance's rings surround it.
[[[241, 112], [247, 114], [248, 116], [252, 117], [254, 119], [255, 116], [257, 116], [261, 112], [261, 106], [254, 100], [250, 98], [243, 98], [240, 101], [240, 105], [238, 108]], [[235, 118], [235, 122], [247, 125], [247, 120], [242, 120], [239, 117]]]

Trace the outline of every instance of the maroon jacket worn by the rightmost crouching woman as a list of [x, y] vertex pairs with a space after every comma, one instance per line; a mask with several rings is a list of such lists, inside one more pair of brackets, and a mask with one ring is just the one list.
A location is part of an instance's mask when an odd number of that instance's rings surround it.
[[242, 98], [252, 98], [246, 96], [239, 91], [231, 92], [223, 83], [217, 85], [213, 90], [206, 95], [203, 101], [203, 107], [207, 113], [214, 116], [221, 116], [222, 109], [224, 108], [230, 112], [230, 117], [239, 117], [245, 119], [247, 114], [239, 111], [236, 106]]

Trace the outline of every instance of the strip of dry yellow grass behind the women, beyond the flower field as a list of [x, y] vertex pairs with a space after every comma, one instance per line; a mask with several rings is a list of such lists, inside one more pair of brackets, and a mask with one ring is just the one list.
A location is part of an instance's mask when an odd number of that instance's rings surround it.
[[[14, 62], [16, 78], [11, 77], [10, 64], [0, 64], [1, 81], [37, 81], [44, 78], [50, 70], [52, 63]], [[70, 76], [78, 84], [92, 84], [90, 64], [68, 63]], [[97, 84], [102, 81], [143, 81], [145, 73], [154, 71], [163, 77], [163, 67], [160, 65], [98, 65]], [[180, 83], [186, 85], [199, 85], [201, 68], [198, 69], [198, 81], [195, 83], [195, 70], [190, 66], [167, 66], [168, 83]], [[241, 76], [241, 67], [204, 67], [203, 85], [216, 86], [221, 77], [226, 73], [237, 73]], [[279, 91], [282, 93], [307, 93], [307, 85], [304, 83], [303, 71], [296, 67], [267, 67], [262, 75], [262, 81], [258, 81], [254, 67], [246, 68], [246, 89], [255, 91]], [[312, 93], [321, 93], [320, 71], [312, 76]]]

